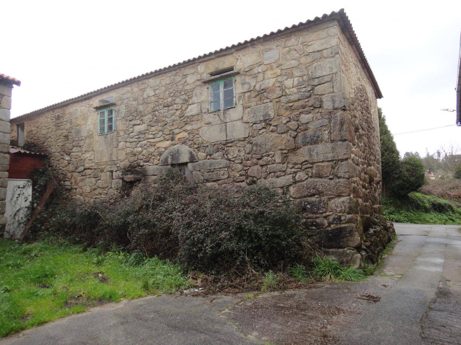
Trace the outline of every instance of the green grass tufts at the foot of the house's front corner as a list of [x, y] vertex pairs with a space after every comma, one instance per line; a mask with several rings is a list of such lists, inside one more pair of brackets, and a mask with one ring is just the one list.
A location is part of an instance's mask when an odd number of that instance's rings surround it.
[[329, 256], [313, 258], [312, 276], [324, 281], [360, 282], [366, 278], [366, 272], [354, 267], [342, 266], [337, 259]]

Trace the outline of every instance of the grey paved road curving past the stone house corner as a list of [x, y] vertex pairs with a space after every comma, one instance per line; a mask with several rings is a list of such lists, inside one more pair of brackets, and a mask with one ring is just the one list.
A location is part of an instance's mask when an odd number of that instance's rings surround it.
[[363, 282], [242, 296], [105, 305], [6, 344], [461, 344], [460, 226], [395, 224], [396, 247]]

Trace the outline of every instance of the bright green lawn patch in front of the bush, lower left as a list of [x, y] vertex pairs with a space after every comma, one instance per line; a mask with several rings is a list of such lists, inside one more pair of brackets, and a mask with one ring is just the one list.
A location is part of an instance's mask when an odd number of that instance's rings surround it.
[[179, 266], [141, 254], [83, 251], [48, 239], [0, 239], [0, 338], [104, 301], [172, 292], [191, 282]]

